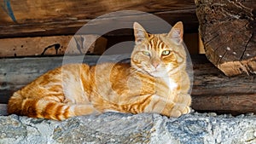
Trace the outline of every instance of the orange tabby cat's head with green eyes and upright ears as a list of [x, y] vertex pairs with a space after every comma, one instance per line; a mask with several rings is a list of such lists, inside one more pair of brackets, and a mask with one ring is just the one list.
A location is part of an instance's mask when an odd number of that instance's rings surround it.
[[133, 27], [136, 45], [131, 54], [131, 66], [137, 71], [163, 77], [185, 65], [182, 22], [177, 22], [165, 34], [150, 34], [137, 22]]

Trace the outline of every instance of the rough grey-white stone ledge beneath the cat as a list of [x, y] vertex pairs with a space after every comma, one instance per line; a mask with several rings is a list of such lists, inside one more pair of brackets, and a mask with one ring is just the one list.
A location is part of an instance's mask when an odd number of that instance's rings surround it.
[[256, 143], [256, 117], [193, 112], [180, 118], [107, 112], [53, 121], [0, 116], [0, 144], [9, 143]]

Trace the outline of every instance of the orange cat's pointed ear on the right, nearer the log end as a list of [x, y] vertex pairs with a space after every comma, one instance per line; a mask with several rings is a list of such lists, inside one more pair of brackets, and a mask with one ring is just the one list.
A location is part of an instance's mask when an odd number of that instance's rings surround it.
[[177, 44], [183, 43], [183, 22], [178, 21], [172, 27], [172, 30], [168, 33], [167, 36], [172, 38], [172, 40]]

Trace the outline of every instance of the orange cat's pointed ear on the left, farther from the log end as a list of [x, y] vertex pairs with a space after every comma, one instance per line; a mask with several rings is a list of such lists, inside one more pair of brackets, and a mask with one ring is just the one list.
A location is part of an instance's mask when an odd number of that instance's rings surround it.
[[136, 44], [142, 43], [143, 40], [148, 38], [148, 33], [144, 30], [143, 26], [141, 26], [139, 23], [134, 22], [133, 30], [134, 30], [134, 37], [135, 37]]

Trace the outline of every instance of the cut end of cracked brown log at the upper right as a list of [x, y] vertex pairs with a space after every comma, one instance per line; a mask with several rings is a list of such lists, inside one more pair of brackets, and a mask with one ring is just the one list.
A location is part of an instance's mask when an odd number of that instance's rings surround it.
[[207, 58], [227, 76], [256, 73], [254, 0], [195, 0]]

